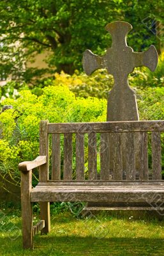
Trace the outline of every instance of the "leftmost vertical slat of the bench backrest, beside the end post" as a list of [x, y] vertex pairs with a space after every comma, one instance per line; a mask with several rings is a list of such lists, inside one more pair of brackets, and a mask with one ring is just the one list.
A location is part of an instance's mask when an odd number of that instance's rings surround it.
[[60, 134], [52, 134], [52, 180], [61, 179], [61, 140]]

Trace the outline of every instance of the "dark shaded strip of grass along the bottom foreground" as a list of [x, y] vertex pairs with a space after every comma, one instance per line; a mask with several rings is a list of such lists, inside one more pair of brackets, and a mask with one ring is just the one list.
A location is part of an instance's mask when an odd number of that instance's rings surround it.
[[22, 250], [22, 237], [15, 241], [0, 237], [1, 256], [16, 255], [117, 255], [117, 256], [163, 256], [163, 239], [131, 238], [131, 237], [80, 237], [80, 236], [36, 236], [34, 251]]

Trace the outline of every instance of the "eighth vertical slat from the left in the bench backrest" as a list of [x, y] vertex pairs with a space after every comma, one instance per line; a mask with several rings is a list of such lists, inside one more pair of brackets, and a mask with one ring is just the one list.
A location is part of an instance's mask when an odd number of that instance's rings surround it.
[[140, 180], [149, 180], [147, 147], [147, 132], [140, 132]]

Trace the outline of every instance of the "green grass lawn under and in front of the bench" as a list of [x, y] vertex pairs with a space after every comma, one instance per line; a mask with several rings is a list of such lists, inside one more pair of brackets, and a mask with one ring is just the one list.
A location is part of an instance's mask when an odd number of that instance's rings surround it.
[[63, 212], [52, 216], [50, 234], [34, 237], [34, 251], [22, 250], [20, 211], [1, 209], [0, 227], [1, 256], [164, 255], [164, 221], [155, 219], [101, 214], [77, 220]]

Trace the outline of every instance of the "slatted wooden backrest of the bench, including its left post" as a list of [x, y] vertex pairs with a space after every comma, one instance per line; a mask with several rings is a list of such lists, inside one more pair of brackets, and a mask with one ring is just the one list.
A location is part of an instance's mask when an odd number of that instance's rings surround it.
[[[52, 159], [52, 180], [61, 180], [61, 134], [63, 134], [63, 178], [73, 179], [72, 157], [75, 151], [76, 175], [74, 179], [84, 180], [85, 177], [85, 151], [84, 137], [88, 136], [88, 176], [89, 180], [135, 180], [135, 154], [136, 138], [140, 152], [140, 163], [138, 178], [147, 180], [149, 178], [148, 168], [148, 137], [151, 141], [151, 162], [152, 178], [161, 179], [161, 132], [164, 132], [164, 121], [136, 121], [136, 122], [95, 122], [95, 123], [69, 123], [69, 124], [48, 124], [47, 121], [40, 122], [40, 155], [51, 152]], [[52, 134], [52, 135], [50, 135]], [[75, 135], [73, 135], [75, 134]], [[49, 148], [48, 137], [51, 136], [51, 148]], [[112, 136], [112, 140], [111, 137]], [[99, 138], [99, 139], [98, 139]], [[98, 140], [97, 140], [98, 139]], [[73, 143], [75, 141], [75, 143]], [[100, 145], [98, 145], [100, 141]], [[114, 147], [110, 147], [110, 142]], [[73, 145], [75, 147], [73, 148]], [[100, 150], [98, 149], [100, 148]], [[110, 152], [112, 148], [112, 152]], [[126, 168], [123, 170], [123, 149], [126, 156]], [[100, 175], [97, 172], [97, 154], [100, 152]], [[110, 167], [110, 153], [112, 153], [112, 170]], [[110, 161], [109, 161], [110, 159]], [[112, 175], [111, 175], [112, 173]], [[125, 173], [125, 175], [124, 175]], [[46, 182], [49, 179], [48, 163], [41, 167], [40, 181]]]

